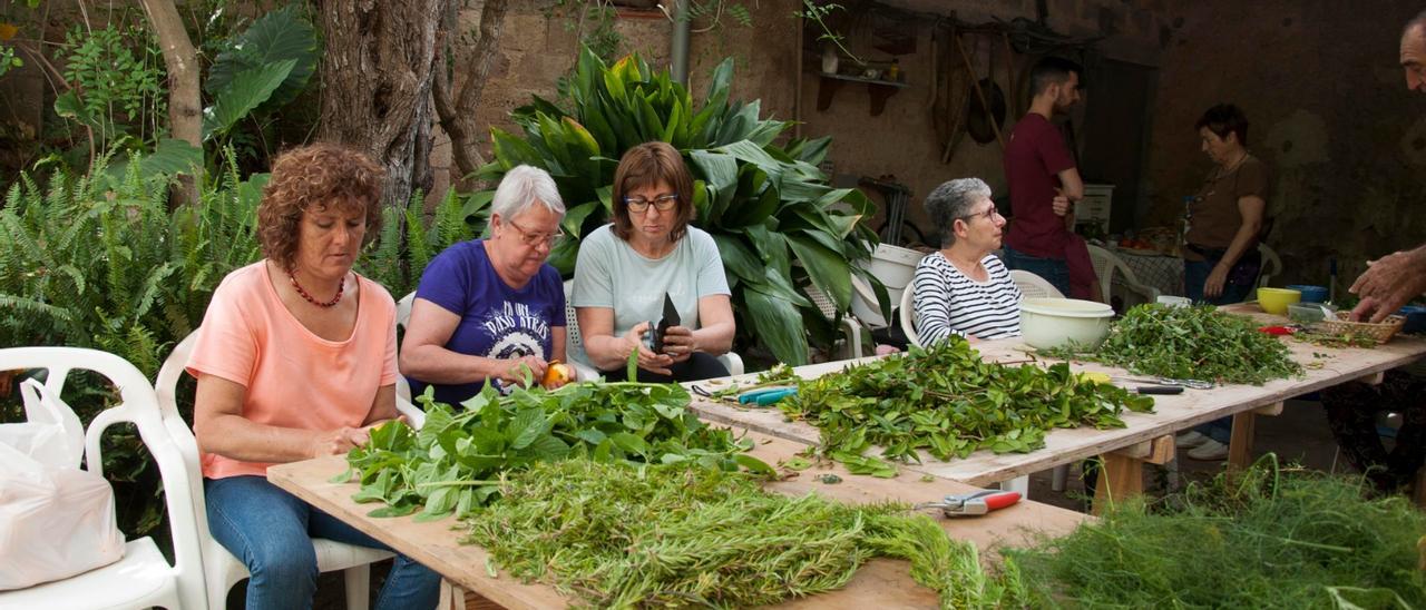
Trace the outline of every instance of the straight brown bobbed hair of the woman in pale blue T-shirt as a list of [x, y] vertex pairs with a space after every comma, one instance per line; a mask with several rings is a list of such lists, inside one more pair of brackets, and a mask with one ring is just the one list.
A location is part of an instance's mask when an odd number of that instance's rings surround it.
[[689, 231], [693, 221], [693, 175], [683, 164], [683, 155], [669, 143], [643, 143], [625, 152], [615, 170], [613, 204], [615, 204], [615, 235], [629, 241], [633, 234], [633, 219], [629, 218], [629, 204], [625, 194], [640, 187], [667, 182], [673, 192], [679, 195], [679, 205], [674, 207], [673, 231], [669, 241], [679, 241]]

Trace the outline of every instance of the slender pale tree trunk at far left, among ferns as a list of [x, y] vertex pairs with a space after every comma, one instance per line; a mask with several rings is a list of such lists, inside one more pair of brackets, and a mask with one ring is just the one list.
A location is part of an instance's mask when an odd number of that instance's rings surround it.
[[[202, 98], [198, 94], [198, 53], [188, 40], [188, 30], [178, 17], [173, 0], [144, 0], [144, 13], [158, 34], [168, 68], [168, 128], [173, 137], [202, 148]], [[201, 168], [198, 168], [201, 171]], [[178, 177], [178, 197], [188, 204], [198, 202], [195, 177]]]

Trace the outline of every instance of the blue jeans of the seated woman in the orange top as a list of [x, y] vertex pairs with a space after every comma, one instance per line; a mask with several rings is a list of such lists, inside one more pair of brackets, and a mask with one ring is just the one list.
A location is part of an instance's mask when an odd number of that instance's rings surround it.
[[[314, 509], [261, 476], [204, 479], [208, 530], [248, 566], [248, 609], [311, 609], [317, 591], [314, 537], [391, 550], [355, 527]], [[441, 576], [396, 556], [376, 609], [431, 609]]]

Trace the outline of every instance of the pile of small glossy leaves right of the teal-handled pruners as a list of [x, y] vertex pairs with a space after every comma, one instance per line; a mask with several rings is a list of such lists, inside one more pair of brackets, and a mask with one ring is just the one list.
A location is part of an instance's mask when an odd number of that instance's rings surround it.
[[920, 450], [941, 460], [980, 449], [1028, 453], [1055, 428], [1124, 428], [1124, 409], [1151, 412], [1154, 399], [1082, 379], [1062, 362], [985, 362], [950, 338], [804, 381], [780, 408], [817, 426], [820, 450], [853, 473], [890, 477], [896, 466], [867, 449], [881, 446], [883, 458], [901, 462], [920, 462]]

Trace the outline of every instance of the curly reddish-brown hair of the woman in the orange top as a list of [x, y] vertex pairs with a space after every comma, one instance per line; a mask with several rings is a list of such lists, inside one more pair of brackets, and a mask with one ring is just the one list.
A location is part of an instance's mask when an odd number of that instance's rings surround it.
[[381, 232], [381, 180], [385, 171], [369, 157], [339, 144], [318, 143], [288, 150], [272, 162], [272, 178], [258, 204], [262, 255], [284, 269], [297, 261], [302, 212], [328, 204], [361, 205], [366, 212], [362, 245]]

